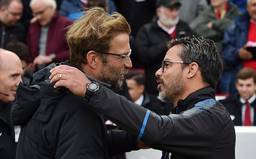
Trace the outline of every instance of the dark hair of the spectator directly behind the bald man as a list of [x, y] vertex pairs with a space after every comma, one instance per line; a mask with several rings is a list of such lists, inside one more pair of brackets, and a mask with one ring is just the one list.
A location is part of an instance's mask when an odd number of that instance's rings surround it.
[[26, 44], [21, 41], [11, 41], [6, 46], [5, 49], [17, 54], [20, 60], [29, 62], [29, 50]]

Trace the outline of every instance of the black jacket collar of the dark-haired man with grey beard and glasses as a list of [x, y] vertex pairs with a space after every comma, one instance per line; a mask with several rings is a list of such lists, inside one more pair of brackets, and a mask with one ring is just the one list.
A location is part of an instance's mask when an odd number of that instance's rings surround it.
[[198, 89], [197, 91], [189, 94], [185, 99], [180, 99], [178, 101], [177, 107], [173, 108], [172, 113], [179, 114], [183, 111], [188, 110], [190, 107], [194, 106], [196, 103], [204, 101], [205, 99], [215, 100], [215, 94], [214, 94], [213, 88], [205, 87], [202, 89]]

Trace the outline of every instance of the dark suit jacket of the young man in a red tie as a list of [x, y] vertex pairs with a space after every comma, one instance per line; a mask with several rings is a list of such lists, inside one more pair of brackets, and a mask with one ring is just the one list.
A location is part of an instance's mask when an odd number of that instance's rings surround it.
[[[238, 93], [232, 95], [232, 96], [229, 96], [227, 97], [226, 99], [224, 100], [221, 100], [220, 103], [223, 104], [230, 116], [233, 115], [233, 123], [234, 125], [243, 125], [242, 124], [242, 106], [243, 106], [243, 103], [241, 103], [240, 101], [240, 96]], [[254, 125], [256, 125], [256, 100], [254, 100], [252, 103], [251, 103], [251, 106], [254, 107]]]

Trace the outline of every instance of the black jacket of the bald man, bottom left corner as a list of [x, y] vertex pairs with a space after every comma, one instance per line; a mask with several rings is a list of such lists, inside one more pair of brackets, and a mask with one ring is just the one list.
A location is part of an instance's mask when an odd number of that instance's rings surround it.
[[14, 127], [11, 121], [11, 103], [0, 101], [0, 158], [15, 158]]

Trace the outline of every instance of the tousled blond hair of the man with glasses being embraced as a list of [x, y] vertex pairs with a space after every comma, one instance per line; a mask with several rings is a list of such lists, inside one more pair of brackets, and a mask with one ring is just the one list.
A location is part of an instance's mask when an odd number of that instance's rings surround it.
[[[101, 7], [92, 7], [75, 21], [67, 32], [70, 61], [78, 68], [87, 63], [86, 55], [95, 49], [108, 52], [111, 40], [120, 34], [129, 35], [131, 28], [119, 13], [107, 14]], [[107, 56], [100, 54], [105, 63]]]

